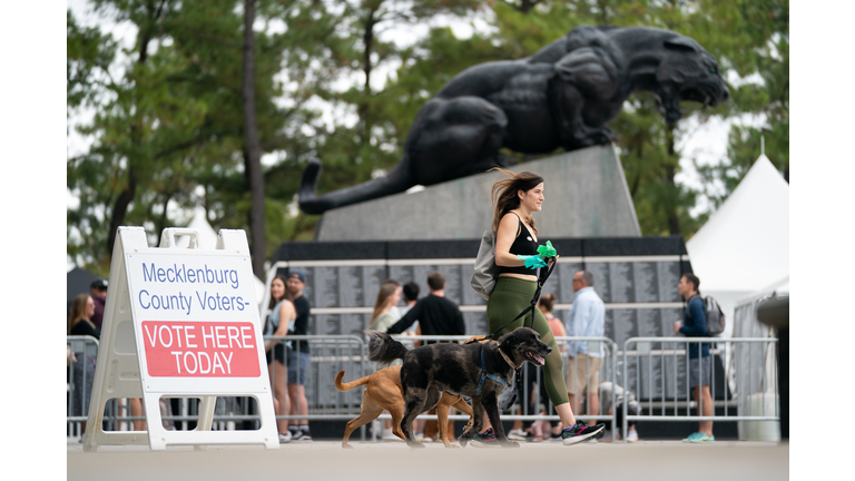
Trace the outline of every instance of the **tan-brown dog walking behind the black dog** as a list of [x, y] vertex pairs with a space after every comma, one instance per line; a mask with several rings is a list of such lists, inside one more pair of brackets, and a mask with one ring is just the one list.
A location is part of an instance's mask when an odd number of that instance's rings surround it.
[[[401, 431], [401, 420], [404, 416], [404, 390], [401, 387], [401, 366], [386, 367], [348, 383], [343, 383], [342, 377], [344, 377], [344, 371], [340, 371], [335, 377], [335, 389], [338, 391], [344, 392], [361, 385], [365, 386], [365, 391], [362, 393], [362, 412], [357, 418], [351, 420], [347, 423], [347, 428], [344, 429], [342, 448], [353, 448], [347, 442], [351, 433], [356, 428], [377, 419], [383, 413], [383, 410], [392, 414], [392, 433], [404, 441], [404, 433]], [[462, 397], [446, 392], [442, 393], [440, 402], [436, 404], [436, 418], [439, 419], [442, 443], [445, 444], [445, 448], [460, 448], [456, 444], [452, 444], [448, 438], [449, 408], [451, 406], [469, 414], [469, 423], [464, 430], [472, 425], [472, 409]]]

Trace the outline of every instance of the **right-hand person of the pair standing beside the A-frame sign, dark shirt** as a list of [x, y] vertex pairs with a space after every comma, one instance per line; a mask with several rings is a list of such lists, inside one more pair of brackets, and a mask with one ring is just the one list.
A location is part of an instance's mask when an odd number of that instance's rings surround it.
[[[291, 271], [287, 282], [288, 294], [291, 295], [294, 308], [297, 311], [297, 318], [294, 321], [294, 328], [288, 331], [288, 335], [307, 335], [308, 316], [312, 305], [303, 289], [306, 287], [306, 275], [302, 271]], [[308, 341], [291, 341], [288, 347], [288, 406], [291, 415], [297, 413], [308, 414], [308, 401], [306, 400], [306, 371], [308, 370], [309, 351]], [[308, 420], [292, 420], [288, 430], [293, 441], [312, 441], [308, 432]]]

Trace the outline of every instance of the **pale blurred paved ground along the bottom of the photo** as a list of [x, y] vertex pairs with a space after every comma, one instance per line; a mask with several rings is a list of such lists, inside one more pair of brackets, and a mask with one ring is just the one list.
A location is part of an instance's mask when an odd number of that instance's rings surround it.
[[522, 443], [520, 449], [411, 450], [402, 442], [337, 441], [262, 446], [106, 446], [68, 444], [68, 480], [787, 480], [789, 444], [718, 441]]

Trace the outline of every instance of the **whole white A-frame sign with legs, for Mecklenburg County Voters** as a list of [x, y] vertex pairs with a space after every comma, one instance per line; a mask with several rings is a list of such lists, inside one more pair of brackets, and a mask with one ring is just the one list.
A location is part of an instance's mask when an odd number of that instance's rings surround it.
[[[193, 240], [190, 248], [177, 248], [176, 235], [198, 239], [191, 229], [165, 229], [160, 247], [151, 248], [141, 227], [119, 227], [83, 449], [145, 441], [153, 450], [167, 444], [278, 448], [246, 233], [220, 230], [213, 251], [196, 248]], [[214, 403], [224, 395], [256, 397], [262, 429], [212, 432]], [[198, 428], [164, 430], [161, 396], [200, 397]], [[148, 431], [102, 431], [111, 397], [142, 397]]]

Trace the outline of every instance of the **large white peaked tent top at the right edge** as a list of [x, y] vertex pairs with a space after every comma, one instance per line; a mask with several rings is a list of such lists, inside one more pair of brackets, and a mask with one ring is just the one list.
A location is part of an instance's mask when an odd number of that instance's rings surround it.
[[718, 301], [733, 333], [739, 301], [789, 278], [789, 185], [765, 155], [687, 243], [700, 292]]

